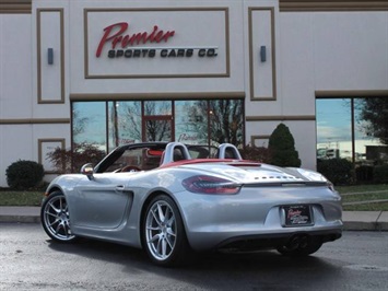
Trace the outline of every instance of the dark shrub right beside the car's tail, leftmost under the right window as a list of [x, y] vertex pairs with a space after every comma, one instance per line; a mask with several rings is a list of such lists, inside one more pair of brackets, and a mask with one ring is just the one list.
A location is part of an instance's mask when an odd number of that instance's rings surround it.
[[352, 162], [346, 159], [318, 160], [317, 170], [334, 185], [349, 185], [352, 182]]

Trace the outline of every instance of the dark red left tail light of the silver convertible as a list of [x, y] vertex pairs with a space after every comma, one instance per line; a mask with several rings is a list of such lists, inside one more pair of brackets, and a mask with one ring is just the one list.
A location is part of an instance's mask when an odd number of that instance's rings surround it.
[[242, 188], [240, 184], [232, 181], [205, 175], [186, 178], [181, 185], [188, 191], [198, 194], [237, 194]]

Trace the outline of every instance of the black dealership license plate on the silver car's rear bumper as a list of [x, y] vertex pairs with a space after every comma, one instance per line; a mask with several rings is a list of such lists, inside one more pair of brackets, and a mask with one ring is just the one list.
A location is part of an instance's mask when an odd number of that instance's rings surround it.
[[285, 226], [305, 226], [313, 224], [310, 206], [283, 206], [283, 211]]

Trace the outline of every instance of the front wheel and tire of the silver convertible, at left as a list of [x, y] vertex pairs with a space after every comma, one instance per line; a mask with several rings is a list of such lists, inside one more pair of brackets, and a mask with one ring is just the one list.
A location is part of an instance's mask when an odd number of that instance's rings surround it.
[[51, 193], [43, 202], [40, 223], [54, 241], [69, 243], [75, 240], [71, 233], [69, 208], [61, 191]]

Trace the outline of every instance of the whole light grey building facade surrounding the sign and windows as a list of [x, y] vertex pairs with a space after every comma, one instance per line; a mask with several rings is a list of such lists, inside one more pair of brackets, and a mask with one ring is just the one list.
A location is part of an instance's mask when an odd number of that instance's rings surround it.
[[[388, 96], [388, 7], [368, 2], [20, 0], [11, 8], [0, 1], [0, 187], [20, 159], [50, 172], [45, 153], [70, 147], [70, 102], [106, 96], [244, 96], [246, 143], [266, 144], [284, 123], [303, 166], [315, 168], [317, 95]], [[85, 8], [177, 7], [227, 8], [228, 77], [85, 78]]]

